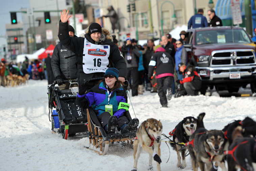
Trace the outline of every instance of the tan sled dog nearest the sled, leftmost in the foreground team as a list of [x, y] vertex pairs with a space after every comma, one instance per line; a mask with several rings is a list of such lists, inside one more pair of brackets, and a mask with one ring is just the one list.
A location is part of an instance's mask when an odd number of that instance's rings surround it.
[[149, 153], [149, 168], [148, 170], [153, 170], [152, 161], [153, 158], [157, 162], [157, 171], [160, 171], [160, 144], [161, 144], [161, 134], [162, 134], [162, 123], [160, 120], [154, 118], [147, 119], [142, 122], [136, 132], [136, 139], [133, 142], [133, 158], [134, 165], [133, 170], [137, 170], [137, 163], [140, 154], [140, 149], [147, 151]]

